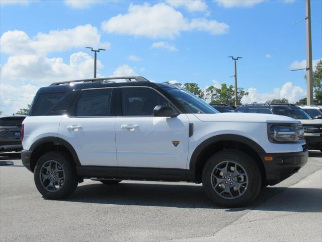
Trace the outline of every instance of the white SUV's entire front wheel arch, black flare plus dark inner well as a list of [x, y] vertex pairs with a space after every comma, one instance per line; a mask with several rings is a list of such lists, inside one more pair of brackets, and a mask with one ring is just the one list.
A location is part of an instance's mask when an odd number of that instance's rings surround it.
[[243, 151], [256, 160], [261, 173], [263, 182], [266, 183], [266, 172], [263, 161], [259, 154], [265, 153], [265, 150], [255, 141], [240, 135], [217, 135], [203, 141], [194, 150], [189, 163], [188, 179], [201, 182], [201, 173], [207, 159], [214, 153], [233, 148]]

